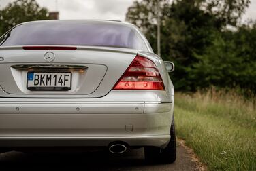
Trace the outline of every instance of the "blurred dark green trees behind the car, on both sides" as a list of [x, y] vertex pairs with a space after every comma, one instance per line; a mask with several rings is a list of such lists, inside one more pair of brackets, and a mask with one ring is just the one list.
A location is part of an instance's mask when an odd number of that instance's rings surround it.
[[[161, 57], [176, 64], [176, 90], [210, 86], [256, 93], [256, 23], [241, 24], [250, 0], [140, 0], [126, 14], [157, 52], [157, 3], [161, 9]], [[0, 35], [20, 22], [50, 19], [35, 0], [0, 10]], [[241, 89], [240, 89], [241, 88]]]

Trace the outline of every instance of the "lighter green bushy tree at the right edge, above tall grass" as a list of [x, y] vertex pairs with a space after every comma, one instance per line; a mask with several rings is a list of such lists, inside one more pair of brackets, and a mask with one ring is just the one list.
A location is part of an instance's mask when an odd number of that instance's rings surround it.
[[216, 35], [208, 50], [197, 55], [199, 62], [193, 64], [190, 70], [191, 78], [197, 80], [197, 88], [211, 85], [221, 88], [239, 87], [255, 93], [255, 33], [255, 27], [242, 26], [238, 32]]

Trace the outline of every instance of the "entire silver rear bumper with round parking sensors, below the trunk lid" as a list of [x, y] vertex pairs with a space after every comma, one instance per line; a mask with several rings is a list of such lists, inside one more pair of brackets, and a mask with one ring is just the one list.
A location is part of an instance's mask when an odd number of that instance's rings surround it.
[[0, 147], [165, 147], [172, 103], [0, 102]]

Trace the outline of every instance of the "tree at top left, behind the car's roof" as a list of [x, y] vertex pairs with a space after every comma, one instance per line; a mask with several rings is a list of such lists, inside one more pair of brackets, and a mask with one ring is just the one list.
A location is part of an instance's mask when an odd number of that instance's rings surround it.
[[0, 11], [0, 35], [21, 22], [48, 19], [48, 10], [35, 0], [16, 0]]

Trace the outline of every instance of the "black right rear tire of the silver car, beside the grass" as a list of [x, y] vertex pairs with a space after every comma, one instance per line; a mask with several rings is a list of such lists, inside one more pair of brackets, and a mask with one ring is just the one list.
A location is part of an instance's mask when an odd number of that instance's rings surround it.
[[144, 147], [145, 159], [149, 163], [171, 164], [176, 160], [176, 136], [174, 126], [174, 115], [170, 128], [171, 139], [165, 149], [159, 147]]

